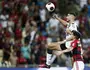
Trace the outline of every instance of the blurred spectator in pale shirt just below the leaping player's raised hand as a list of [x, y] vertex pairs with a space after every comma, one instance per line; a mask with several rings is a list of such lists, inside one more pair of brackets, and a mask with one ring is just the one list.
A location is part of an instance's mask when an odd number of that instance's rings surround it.
[[57, 38], [59, 36], [58, 34], [59, 33], [58, 32], [59, 31], [59, 21], [51, 17], [49, 19], [48, 25], [49, 25], [48, 34], [51, 36], [52, 41], [57, 41]]

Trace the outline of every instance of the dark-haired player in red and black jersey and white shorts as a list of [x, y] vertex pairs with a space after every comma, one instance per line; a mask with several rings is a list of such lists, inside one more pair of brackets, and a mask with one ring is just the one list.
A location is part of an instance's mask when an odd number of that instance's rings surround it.
[[83, 62], [83, 57], [82, 57], [82, 45], [79, 40], [80, 38], [80, 33], [77, 31], [72, 31], [72, 39], [73, 41], [71, 42], [71, 47], [67, 48], [62, 51], [55, 52], [55, 54], [61, 55], [63, 53], [72, 51], [72, 57], [73, 57], [73, 68], [72, 70], [84, 70], [84, 62]]

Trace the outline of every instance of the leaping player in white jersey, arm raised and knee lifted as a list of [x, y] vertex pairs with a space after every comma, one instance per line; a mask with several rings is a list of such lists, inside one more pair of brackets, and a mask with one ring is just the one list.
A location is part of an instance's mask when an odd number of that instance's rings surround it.
[[46, 55], [46, 67], [50, 68], [50, 65], [56, 58], [56, 55], [53, 55], [53, 50], [63, 50], [70, 47], [72, 42], [72, 30], [78, 31], [78, 23], [75, 21], [76, 15], [75, 13], [69, 13], [67, 15], [67, 21], [59, 18], [57, 15], [53, 16], [57, 20], [59, 20], [64, 26], [66, 26], [66, 39], [63, 41], [64, 44], [57, 44], [57, 43], [49, 43]]

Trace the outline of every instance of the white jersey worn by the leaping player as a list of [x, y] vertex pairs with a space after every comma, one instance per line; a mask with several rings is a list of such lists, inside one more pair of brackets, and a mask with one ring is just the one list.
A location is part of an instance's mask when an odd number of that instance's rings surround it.
[[[78, 31], [78, 22], [75, 21], [72, 24], [67, 23], [67, 28], [66, 29], [69, 29], [70, 31], [72, 31], [72, 30]], [[71, 35], [68, 34], [68, 33], [66, 33], [66, 39], [69, 38], [69, 37], [71, 37]], [[69, 48], [71, 46], [71, 42], [72, 41], [67, 41], [65, 43], [65, 45], [66, 45], [67, 48]]]

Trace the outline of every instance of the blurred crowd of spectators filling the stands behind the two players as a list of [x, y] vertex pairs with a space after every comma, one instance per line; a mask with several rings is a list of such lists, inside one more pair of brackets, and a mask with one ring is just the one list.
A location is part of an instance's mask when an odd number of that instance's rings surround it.
[[[90, 0], [0, 0], [0, 67], [45, 64], [47, 42], [65, 39], [65, 27], [46, 10], [47, 2], [64, 20], [77, 13], [84, 62], [90, 66]], [[52, 66], [72, 66], [71, 58], [63, 54]]]

